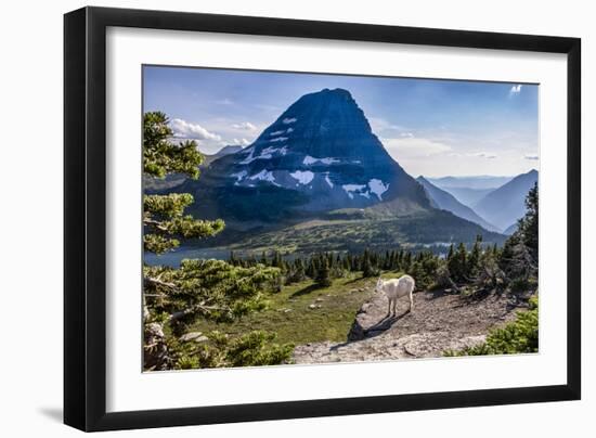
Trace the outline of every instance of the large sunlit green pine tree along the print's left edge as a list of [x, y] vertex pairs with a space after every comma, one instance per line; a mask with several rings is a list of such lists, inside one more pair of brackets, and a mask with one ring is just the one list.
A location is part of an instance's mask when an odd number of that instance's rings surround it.
[[[196, 142], [171, 142], [172, 131], [164, 113], [143, 116], [143, 172], [145, 178], [164, 178], [168, 173], [185, 173], [198, 178], [203, 156]], [[224, 228], [218, 220], [195, 219], [184, 215], [194, 198], [189, 193], [145, 195], [143, 197], [144, 248], [163, 254], [179, 246], [181, 239], [212, 236]], [[231, 254], [230, 258], [235, 260]], [[234, 266], [223, 260], [183, 260], [180, 268], [143, 267], [144, 368], [167, 370], [199, 364], [196, 343], [184, 344], [182, 335], [197, 318], [230, 321], [250, 311], [262, 309], [263, 291], [277, 284], [280, 270], [252, 265]], [[167, 325], [168, 330], [164, 330]], [[268, 352], [264, 362], [282, 363], [289, 360], [286, 347], [264, 345], [268, 336], [247, 334], [256, 339], [243, 346]], [[239, 342], [239, 340], [238, 340]], [[210, 339], [204, 348], [213, 355], [225, 355], [233, 362], [235, 340], [218, 344]], [[246, 356], [247, 351], [243, 350]], [[264, 356], [261, 356], [264, 357]], [[257, 356], [255, 356], [257, 358]]]

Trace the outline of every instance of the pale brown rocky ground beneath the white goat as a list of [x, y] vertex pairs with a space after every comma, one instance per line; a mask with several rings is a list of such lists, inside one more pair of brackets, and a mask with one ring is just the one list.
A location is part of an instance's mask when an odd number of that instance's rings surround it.
[[414, 294], [387, 315], [387, 298], [375, 294], [355, 315], [346, 343], [312, 343], [295, 348], [296, 363], [355, 362], [441, 357], [444, 350], [482, 343], [490, 328], [515, 318], [516, 306], [502, 294], [478, 299], [443, 291]]

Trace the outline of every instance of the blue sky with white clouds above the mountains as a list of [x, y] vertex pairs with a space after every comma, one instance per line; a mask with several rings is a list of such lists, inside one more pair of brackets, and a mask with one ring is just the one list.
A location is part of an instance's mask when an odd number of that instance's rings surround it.
[[537, 169], [539, 86], [193, 67], [143, 67], [143, 111], [213, 154], [246, 146], [301, 95], [350, 91], [385, 149], [413, 177]]

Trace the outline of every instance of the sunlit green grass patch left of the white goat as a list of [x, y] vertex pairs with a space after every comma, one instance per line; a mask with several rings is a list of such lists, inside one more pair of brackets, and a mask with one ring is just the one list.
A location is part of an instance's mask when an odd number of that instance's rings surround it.
[[[373, 294], [374, 283], [375, 279], [362, 279], [354, 273], [349, 278], [335, 279], [329, 287], [319, 288], [311, 280], [291, 284], [284, 286], [280, 293], [268, 295], [267, 310], [232, 323], [200, 321], [192, 330], [204, 333], [219, 330], [231, 336], [262, 330], [275, 332], [275, 342], [280, 344], [344, 342], [357, 311]], [[321, 308], [311, 309], [310, 305]]]

